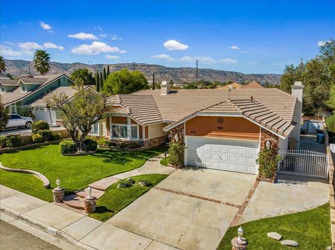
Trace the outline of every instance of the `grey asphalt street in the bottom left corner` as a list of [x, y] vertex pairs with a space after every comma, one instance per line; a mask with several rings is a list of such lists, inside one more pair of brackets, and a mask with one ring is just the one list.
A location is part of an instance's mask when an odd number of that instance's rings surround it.
[[40, 238], [0, 221], [0, 250], [59, 250]]

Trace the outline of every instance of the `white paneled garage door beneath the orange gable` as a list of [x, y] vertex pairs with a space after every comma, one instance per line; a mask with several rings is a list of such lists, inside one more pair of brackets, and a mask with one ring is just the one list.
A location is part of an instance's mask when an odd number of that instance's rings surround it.
[[186, 166], [257, 173], [258, 141], [186, 136]]

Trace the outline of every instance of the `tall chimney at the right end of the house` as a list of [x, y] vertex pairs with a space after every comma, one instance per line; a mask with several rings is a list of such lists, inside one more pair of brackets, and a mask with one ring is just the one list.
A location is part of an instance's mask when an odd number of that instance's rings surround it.
[[[297, 97], [295, 103], [295, 113], [293, 114], [293, 120], [297, 123], [295, 128], [292, 130], [290, 138], [290, 149], [299, 149], [300, 145], [300, 128], [301, 128], [301, 112], [302, 112], [302, 98], [304, 96], [304, 85], [301, 81], [296, 81], [292, 85], [292, 96]], [[285, 149], [283, 149], [285, 150]]]

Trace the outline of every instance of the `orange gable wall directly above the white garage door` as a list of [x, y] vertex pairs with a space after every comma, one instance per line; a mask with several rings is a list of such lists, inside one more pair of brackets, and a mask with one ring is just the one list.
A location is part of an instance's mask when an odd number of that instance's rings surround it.
[[242, 117], [196, 116], [186, 121], [186, 135], [258, 141], [260, 127]]

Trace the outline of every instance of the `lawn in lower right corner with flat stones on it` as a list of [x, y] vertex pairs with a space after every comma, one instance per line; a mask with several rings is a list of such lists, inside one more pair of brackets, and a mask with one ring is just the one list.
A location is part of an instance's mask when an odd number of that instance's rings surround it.
[[[228, 229], [218, 250], [232, 249], [230, 241], [237, 236], [238, 227]], [[329, 203], [304, 212], [251, 221], [242, 227], [244, 237], [249, 242], [248, 250], [292, 249], [282, 246], [281, 242], [269, 239], [267, 233], [272, 231], [281, 234], [283, 240], [297, 241], [299, 244], [297, 249], [326, 249], [332, 245]]]

